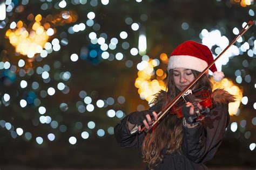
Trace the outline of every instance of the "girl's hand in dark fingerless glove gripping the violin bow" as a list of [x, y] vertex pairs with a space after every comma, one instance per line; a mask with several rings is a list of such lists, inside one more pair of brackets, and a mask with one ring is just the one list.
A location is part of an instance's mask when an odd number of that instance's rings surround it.
[[149, 129], [153, 121], [157, 121], [157, 118], [157, 113], [153, 110], [136, 111], [131, 113], [129, 123], [138, 125], [138, 130], [141, 131], [142, 125], [144, 125], [146, 129]]

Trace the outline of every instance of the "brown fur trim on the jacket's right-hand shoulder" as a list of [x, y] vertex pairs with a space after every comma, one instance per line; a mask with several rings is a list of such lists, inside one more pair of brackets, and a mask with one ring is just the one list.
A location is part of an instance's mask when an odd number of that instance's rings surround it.
[[213, 104], [219, 105], [219, 104], [228, 104], [235, 101], [234, 95], [231, 95], [226, 90], [223, 89], [215, 89], [212, 92], [212, 101]]

